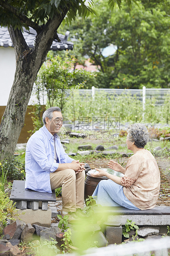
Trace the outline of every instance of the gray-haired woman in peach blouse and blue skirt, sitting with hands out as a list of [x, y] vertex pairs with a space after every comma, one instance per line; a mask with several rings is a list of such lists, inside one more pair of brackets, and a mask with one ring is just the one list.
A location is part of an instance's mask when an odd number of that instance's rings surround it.
[[106, 171], [95, 169], [93, 177], [106, 176], [96, 187], [93, 197], [102, 206], [123, 206], [134, 210], [152, 209], [158, 200], [160, 173], [154, 156], [144, 146], [149, 140], [148, 130], [141, 123], [128, 126], [126, 144], [133, 151], [126, 168], [113, 160], [109, 168], [124, 174], [117, 177]]

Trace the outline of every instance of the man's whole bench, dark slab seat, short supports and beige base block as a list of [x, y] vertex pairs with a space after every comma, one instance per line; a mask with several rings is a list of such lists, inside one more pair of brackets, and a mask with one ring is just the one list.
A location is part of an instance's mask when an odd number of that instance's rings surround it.
[[48, 202], [56, 202], [55, 191], [44, 193], [25, 190], [24, 180], [14, 180], [10, 199], [18, 208], [19, 218], [14, 217], [14, 220], [20, 219], [31, 225], [51, 227], [51, 209], [48, 208]]

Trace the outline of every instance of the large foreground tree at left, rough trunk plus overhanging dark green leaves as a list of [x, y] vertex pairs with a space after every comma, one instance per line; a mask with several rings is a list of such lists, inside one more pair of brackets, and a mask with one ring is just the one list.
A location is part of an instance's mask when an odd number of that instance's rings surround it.
[[[132, 0], [135, 2], [135, 0]], [[126, 2], [126, 0], [124, 0]], [[121, 0], [109, 0], [121, 8]], [[129, 7], [131, 0], [127, 1]], [[16, 55], [16, 72], [5, 113], [0, 124], [0, 159], [14, 154], [37, 72], [42, 66], [57, 30], [64, 18], [67, 23], [94, 13], [93, 0], [0, 0], [0, 25], [9, 29]], [[66, 16], [67, 15], [67, 16]], [[37, 31], [30, 49], [22, 27]]]

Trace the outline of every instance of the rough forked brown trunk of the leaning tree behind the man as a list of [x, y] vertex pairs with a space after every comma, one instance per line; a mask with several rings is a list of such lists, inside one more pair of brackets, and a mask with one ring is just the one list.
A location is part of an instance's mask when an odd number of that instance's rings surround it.
[[42, 31], [37, 34], [35, 46], [31, 50], [21, 31], [17, 28], [16, 30], [9, 28], [16, 54], [16, 72], [0, 124], [0, 160], [14, 154], [37, 73], [56, 37], [57, 28], [67, 12], [68, 9], [65, 9], [62, 17], [54, 17], [47, 22]]

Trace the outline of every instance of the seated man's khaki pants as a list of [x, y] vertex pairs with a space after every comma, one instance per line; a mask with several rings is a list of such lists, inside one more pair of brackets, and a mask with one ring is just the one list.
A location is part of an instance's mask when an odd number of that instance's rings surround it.
[[72, 169], [50, 173], [51, 190], [62, 187], [63, 211], [76, 211], [84, 207], [85, 172], [75, 174]]

